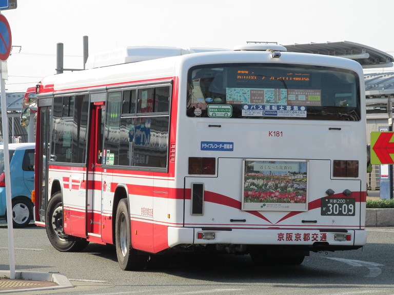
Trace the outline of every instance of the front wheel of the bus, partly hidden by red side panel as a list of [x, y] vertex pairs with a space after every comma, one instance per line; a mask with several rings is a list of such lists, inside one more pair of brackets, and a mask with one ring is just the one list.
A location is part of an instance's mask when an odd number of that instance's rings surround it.
[[57, 192], [48, 202], [45, 228], [52, 246], [62, 252], [81, 251], [89, 242], [86, 239], [69, 237], [63, 231], [62, 193]]

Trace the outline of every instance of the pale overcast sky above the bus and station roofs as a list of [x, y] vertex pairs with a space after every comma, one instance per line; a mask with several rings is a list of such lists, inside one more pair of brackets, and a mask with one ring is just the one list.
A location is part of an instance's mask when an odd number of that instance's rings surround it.
[[[232, 49], [247, 41], [352, 41], [394, 55], [392, 0], [17, 0], [3, 10], [12, 35], [7, 92], [25, 92], [56, 68], [83, 68], [89, 54], [129, 46]], [[391, 72], [380, 68], [369, 72]]]

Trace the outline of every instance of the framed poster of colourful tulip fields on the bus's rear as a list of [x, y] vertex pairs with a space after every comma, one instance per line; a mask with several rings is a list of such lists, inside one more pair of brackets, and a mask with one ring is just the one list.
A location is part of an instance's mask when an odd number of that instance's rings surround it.
[[245, 159], [243, 210], [307, 210], [308, 161]]

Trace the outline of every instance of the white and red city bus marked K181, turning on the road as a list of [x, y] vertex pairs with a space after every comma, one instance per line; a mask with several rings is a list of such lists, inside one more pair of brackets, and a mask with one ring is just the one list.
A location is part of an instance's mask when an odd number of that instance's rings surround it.
[[362, 68], [285, 50], [130, 47], [45, 77], [35, 218], [52, 245], [114, 244], [122, 269], [178, 251], [301, 264], [364, 246]]

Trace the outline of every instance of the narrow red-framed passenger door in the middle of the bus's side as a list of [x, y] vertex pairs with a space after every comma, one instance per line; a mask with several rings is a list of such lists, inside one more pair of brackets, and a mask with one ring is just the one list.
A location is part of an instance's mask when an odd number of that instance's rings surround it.
[[104, 102], [92, 103], [88, 162], [87, 234], [88, 240], [96, 243], [102, 241], [102, 146], [104, 113]]

